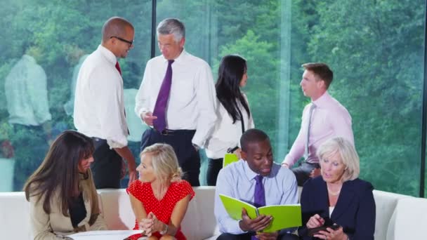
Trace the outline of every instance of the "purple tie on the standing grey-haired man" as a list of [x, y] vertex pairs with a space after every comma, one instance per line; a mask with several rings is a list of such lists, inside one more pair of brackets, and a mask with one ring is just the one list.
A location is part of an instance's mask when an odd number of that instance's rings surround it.
[[168, 68], [166, 69], [159, 95], [157, 95], [155, 110], [152, 113], [153, 116], [157, 116], [157, 119], [153, 121], [153, 125], [160, 133], [166, 128], [166, 105], [168, 103], [169, 93], [171, 92], [173, 61], [174, 60], [168, 60]]

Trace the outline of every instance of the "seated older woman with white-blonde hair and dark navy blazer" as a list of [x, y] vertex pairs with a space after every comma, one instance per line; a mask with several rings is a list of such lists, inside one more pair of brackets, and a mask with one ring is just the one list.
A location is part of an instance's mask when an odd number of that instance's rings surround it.
[[[372, 185], [358, 178], [359, 156], [344, 138], [332, 138], [317, 149], [321, 176], [308, 180], [301, 194], [302, 239], [374, 239]], [[329, 227], [338, 225], [339, 227]], [[313, 231], [316, 227], [324, 227]], [[314, 234], [309, 234], [310, 229]], [[309, 236], [310, 235], [310, 236]]]

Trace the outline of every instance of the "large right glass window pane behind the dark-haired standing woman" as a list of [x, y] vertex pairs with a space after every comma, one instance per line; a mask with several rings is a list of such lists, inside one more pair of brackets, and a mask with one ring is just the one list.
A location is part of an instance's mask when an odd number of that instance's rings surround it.
[[277, 162], [289, 152], [310, 102], [299, 86], [301, 64], [327, 62], [334, 70], [329, 93], [353, 118], [360, 178], [376, 189], [417, 195], [424, 5], [164, 0], [157, 1], [157, 22], [183, 20], [186, 49], [209, 62], [214, 76], [223, 55], [247, 58], [244, 91]]

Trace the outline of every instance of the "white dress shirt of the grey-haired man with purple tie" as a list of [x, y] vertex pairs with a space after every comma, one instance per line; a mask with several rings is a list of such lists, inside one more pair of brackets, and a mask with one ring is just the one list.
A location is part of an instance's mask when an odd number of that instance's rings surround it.
[[[138, 117], [143, 112], [154, 112], [167, 65], [163, 55], [147, 62], [135, 98]], [[203, 147], [216, 121], [215, 87], [207, 62], [183, 50], [172, 64], [171, 93], [166, 107], [166, 128], [196, 130], [192, 143]]]

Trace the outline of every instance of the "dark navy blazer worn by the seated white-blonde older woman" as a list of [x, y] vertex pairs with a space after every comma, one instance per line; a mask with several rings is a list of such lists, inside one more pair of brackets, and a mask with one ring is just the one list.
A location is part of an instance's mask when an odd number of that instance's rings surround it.
[[317, 239], [307, 236], [306, 223], [316, 213], [324, 218], [325, 224], [336, 223], [343, 227], [350, 239], [374, 239], [375, 201], [369, 182], [356, 178], [343, 183], [331, 218], [326, 182], [322, 176], [309, 179], [301, 193], [303, 226], [298, 228], [302, 239]]

